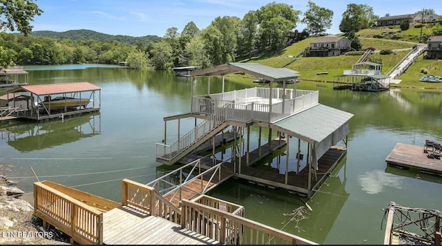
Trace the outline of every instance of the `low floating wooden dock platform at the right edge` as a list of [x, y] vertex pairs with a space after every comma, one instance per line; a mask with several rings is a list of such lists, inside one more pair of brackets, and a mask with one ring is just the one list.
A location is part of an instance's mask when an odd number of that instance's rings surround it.
[[390, 167], [420, 169], [423, 173], [442, 175], [442, 160], [427, 158], [423, 146], [402, 144], [398, 142], [392, 152], [385, 158]]

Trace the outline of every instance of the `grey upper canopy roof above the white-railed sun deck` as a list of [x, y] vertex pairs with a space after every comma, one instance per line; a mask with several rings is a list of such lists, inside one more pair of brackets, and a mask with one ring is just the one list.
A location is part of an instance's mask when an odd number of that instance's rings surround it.
[[298, 72], [289, 68], [272, 68], [271, 66], [265, 66], [258, 63], [238, 62], [231, 62], [228, 64], [215, 66], [214, 68], [194, 70], [191, 72], [191, 76], [219, 76], [238, 72], [267, 79], [270, 82], [296, 79], [299, 77]]

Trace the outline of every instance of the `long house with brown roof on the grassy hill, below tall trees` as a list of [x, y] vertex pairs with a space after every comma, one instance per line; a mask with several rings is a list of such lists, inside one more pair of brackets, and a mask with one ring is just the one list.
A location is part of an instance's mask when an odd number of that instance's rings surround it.
[[334, 57], [351, 50], [352, 42], [345, 36], [318, 37], [305, 48], [304, 57]]

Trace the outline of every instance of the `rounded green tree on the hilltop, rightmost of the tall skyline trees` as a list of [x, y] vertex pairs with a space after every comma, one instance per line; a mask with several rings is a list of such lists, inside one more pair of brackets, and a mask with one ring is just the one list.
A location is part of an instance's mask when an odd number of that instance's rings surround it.
[[367, 4], [349, 3], [347, 10], [343, 12], [339, 30], [341, 32], [358, 32], [361, 29], [369, 28], [370, 23], [376, 18], [373, 8]]

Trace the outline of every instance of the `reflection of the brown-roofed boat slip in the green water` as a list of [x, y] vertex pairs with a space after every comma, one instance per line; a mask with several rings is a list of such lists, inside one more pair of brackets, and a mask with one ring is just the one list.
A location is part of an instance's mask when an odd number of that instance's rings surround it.
[[20, 124], [2, 129], [1, 139], [17, 151], [30, 152], [101, 134], [99, 113], [52, 122]]

